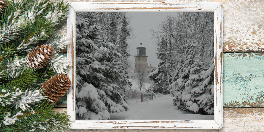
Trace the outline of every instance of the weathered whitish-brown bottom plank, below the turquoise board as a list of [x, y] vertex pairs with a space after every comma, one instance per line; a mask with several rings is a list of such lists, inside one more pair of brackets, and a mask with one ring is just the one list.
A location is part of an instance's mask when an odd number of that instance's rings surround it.
[[[67, 132], [249, 132], [264, 131], [264, 108], [224, 108], [221, 129], [68, 129]], [[62, 109], [63, 111], [63, 109]]]

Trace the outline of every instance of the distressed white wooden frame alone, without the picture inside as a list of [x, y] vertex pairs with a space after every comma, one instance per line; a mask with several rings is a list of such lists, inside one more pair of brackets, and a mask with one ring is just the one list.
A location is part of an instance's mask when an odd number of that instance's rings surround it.
[[[219, 129], [223, 126], [223, 7], [220, 2], [71, 2], [67, 18], [67, 114], [71, 129]], [[214, 120], [76, 120], [76, 12], [214, 12]]]

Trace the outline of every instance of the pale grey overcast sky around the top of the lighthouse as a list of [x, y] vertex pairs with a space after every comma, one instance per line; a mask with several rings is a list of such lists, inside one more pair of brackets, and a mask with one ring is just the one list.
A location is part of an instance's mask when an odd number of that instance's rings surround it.
[[[158, 66], [159, 59], [157, 59], [157, 46], [154, 44], [155, 40], [152, 39], [151, 31], [152, 27], [158, 30], [158, 25], [161, 23], [166, 16], [166, 14], [171, 16], [177, 16], [177, 12], [128, 12], [127, 15], [131, 17], [130, 26], [133, 29], [134, 38], [127, 40], [130, 44], [130, 54], [129, 61], [132, 62], [132, 68], [135, 63], [134, 55], [137, 54], [136, 47], [140, 45], [145, 46], [147, 57], [147, 62], [152, 64], [152, 66]], [[148, 66], [149, 66], [148, 64]]]

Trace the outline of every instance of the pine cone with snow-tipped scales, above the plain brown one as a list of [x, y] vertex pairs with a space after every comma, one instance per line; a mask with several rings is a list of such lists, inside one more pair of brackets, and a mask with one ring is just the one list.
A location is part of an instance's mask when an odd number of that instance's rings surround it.
[[53, 47], [48, 44], [37, 46], [31, 50], [26, 57], [26, 66], [28, 68], [43, 68], [45, 63], [50, 62], [49, 60], [53, 56]]

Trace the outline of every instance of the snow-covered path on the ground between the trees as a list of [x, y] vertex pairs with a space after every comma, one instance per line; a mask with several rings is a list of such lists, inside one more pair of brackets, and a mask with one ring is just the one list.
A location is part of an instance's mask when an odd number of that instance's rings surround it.
[[172, 103], [173, 97], [161, 95], [153, 100], [138, 102], [135, 99], [127, 100], [129, 111], [111, 113], [110, 119], [214, 119], [214, 115], [192, 114], [180, 111]]

